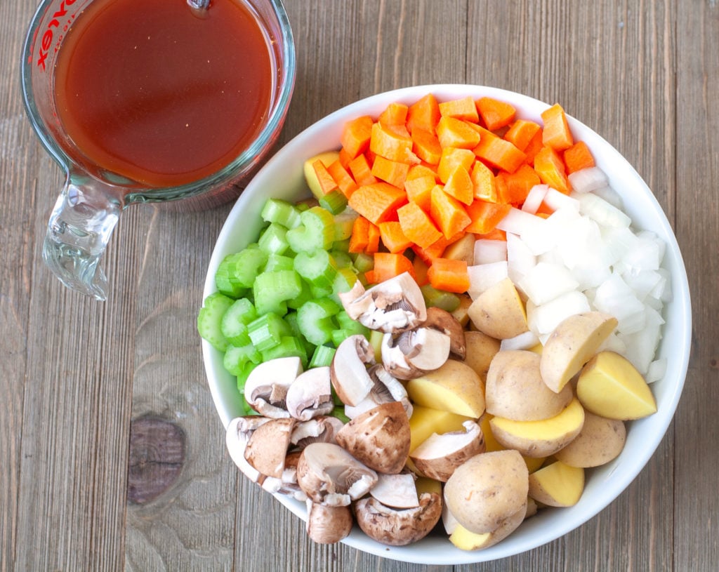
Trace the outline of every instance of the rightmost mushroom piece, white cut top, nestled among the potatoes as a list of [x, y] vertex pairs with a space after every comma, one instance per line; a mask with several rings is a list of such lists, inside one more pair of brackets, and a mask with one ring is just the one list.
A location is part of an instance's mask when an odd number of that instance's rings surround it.
[[485, 452], [485, 438], [480, 426], [465, 421], [464, 431], [438, 435], [433, 433], [412, 451], [412, 462], [423, 475], [446, 483], [454, 469], [468, 458]]

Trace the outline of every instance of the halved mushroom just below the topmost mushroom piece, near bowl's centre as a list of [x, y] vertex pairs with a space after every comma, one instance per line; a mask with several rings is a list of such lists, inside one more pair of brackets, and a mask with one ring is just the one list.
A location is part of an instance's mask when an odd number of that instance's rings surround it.
[[441, 367], [449, 358], [451, 338], [433, 328], [415, 328], [382, 338], [385, 369], [398, 379], [415, 379]]

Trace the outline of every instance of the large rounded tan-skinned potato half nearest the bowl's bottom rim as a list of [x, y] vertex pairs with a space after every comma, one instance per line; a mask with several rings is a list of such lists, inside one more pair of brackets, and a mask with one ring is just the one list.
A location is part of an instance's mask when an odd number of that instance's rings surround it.
[[444, 486], [449, 512], [470, 532], [493, 532], [526, 508], [529, 473], [517, 451], [480, 453], [457, 467]]

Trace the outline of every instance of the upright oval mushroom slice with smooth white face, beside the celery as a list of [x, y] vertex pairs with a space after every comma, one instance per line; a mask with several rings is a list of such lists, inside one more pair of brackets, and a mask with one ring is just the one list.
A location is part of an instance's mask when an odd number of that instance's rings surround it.
[[337, 346], [330, 366], [330, 379], [344, 405], [357, 405], [370, 393], [374, 382], [367, 373], [367, 365], [373, 364], [375, 351], [365, 336], [349, 336]]

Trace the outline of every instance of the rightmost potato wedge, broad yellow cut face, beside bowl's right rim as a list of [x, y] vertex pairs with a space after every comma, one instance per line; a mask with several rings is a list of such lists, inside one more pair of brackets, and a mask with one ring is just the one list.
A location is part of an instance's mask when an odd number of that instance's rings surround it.
[[613, 351], [600, 352], [582, 369], [577, 397], [588, 411], [608, 419], [639, 419], [656, 413], [656, 400], [644, 377]]

